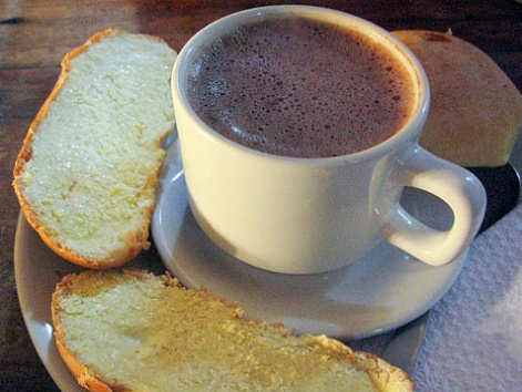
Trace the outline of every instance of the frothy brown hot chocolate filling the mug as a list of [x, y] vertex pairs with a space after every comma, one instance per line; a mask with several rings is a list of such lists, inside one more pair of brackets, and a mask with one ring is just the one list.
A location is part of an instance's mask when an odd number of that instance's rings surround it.
[[303, 17], [245, 24], [199, 53], [188, 100], [247, 147], [330, 157], [375, 146], [414, 110], [416, 81], [382, 45]]

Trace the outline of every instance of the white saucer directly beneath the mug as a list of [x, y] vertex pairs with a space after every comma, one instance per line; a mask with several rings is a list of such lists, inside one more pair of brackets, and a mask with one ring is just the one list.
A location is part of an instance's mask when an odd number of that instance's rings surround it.
[[[429, 203], [429, 207], [427, 206]], [[406, 192], [402, 204], [434, 227], [452, 215], [432, 196]], [[298, 333], [361, 339], [396, 329], [431, 308], [458, 277], [465, 255], [430, 267], [387, 243], [366, 259], [331, 272], [279, 275], [244, 264], [217, 248], [187, 204], [175, 141], [167, 151], [152, 235], [165, 266], [190, 288], [237, 301], [250, 320], [283, 321]]]

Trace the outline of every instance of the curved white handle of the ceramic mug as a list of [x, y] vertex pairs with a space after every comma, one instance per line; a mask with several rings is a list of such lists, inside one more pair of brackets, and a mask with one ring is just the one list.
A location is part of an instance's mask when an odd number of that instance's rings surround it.
[[388, 243], [431, 266], [443, 266], [469, 247], [485, 212], [485, 190], [472, 173], [416, 144], [391, 182], [438, 196], [452, 209], [453, 225], [446, 231], [436, 230], [398, 203], [386, 214], [381, 226], [380, 233]]

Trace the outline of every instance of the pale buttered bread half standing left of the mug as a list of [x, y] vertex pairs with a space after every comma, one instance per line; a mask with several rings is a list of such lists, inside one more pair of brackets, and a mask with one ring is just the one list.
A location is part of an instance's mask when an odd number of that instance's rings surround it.
[[13, 182], [28, 221], [63, 258], [110, 268], [150, 246], [175, 56], [158, 38], [106, 30], [63, 59]]

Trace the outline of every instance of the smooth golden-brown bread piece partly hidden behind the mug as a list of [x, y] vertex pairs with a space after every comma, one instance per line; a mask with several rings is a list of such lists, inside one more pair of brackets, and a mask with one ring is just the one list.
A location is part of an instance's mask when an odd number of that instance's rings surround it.
[[392, 34], [419, 58], [430, 83], [420, 145], [461, 166], [506, 164], [522, 126], [522, 95], [508, 75], [451, 31]]

